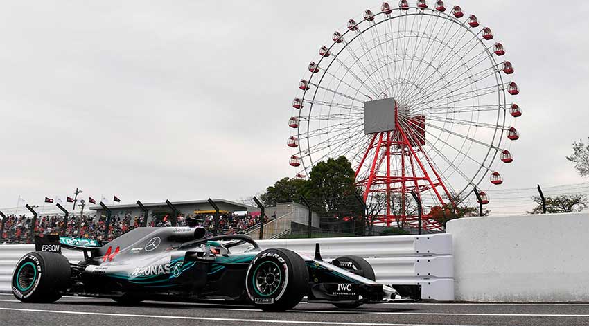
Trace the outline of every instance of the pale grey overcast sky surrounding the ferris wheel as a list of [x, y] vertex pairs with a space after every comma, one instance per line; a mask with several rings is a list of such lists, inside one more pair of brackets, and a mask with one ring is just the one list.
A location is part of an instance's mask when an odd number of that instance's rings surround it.
[[[589, 136], [589, 2], [454, 3], [516, 69], [524, 116], [502, 187], [583, 182], [565, 156]], [[292, 176], [297, 84], [333, 31], [375, 6], [1, 1], [0, 207], [76, 187], [123, 203], [239, 199]]]

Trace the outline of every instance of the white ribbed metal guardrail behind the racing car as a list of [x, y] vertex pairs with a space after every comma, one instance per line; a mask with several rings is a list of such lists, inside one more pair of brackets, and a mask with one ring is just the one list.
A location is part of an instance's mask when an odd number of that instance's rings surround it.
[[[321, 245], [324, 260], [343, 255], [358, 255], [373, 266], [376, 280], [384, 284], [421, 284], [422, 298], [454, 300], [454, 262], [452, 237], [440, 235], [403, 235], [387, 237], [344, 237], [321, 239], [276, 239], [258, 241], [262, 249], [288, 248], [313, 257], [315, 243]], [[0, 245], [0, 291], [10, 291], [10, 279], [17, 261], [34, 251], [30, 244]], [[83, 255], [63, 249], [71, 262]]]

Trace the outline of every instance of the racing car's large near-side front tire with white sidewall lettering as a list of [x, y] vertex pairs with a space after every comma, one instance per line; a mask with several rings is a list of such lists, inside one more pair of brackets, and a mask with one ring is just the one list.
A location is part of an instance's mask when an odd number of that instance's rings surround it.
[[285, 311], [301, 302], [308, 282], [307, 266], [297, 253], [272, 248], [258, 253], [249, 264], [245, 291], [263, 311]]

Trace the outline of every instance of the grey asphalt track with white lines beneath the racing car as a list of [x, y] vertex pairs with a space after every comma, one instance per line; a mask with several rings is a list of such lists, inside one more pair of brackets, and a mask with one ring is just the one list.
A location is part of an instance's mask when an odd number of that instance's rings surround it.
[[24, 304], [0, 293], [0, 325], [589, 325], [589, 304], [419, 303], [337, 309], [301, 302], [267, 313], [240, 305], [142, 302], [121, 307], [98, 298], [64, 297], [53, 304]]

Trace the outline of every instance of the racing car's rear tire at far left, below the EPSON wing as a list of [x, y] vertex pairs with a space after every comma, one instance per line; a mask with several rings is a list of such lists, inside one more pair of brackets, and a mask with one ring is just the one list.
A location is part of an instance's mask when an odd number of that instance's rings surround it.
[[24, 255], [12, 273], [12, 294], [22, 302], [51, 303], [62, 297], [71, 269], [59, 253], [35, 251]]

